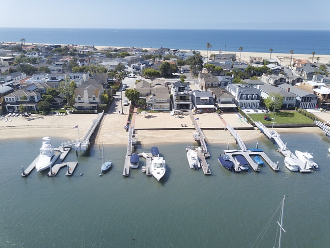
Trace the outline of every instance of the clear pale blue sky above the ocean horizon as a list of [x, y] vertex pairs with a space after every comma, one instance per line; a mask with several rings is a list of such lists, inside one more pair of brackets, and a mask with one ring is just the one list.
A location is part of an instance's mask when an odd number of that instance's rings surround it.
[[330, 30], [329, 0], [0, 0], [2, 28]]

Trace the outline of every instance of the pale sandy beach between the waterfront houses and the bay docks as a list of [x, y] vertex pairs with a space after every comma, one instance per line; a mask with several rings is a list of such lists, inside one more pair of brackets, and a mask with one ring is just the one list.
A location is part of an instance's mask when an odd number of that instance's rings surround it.
[[[224, 130], [224, 122], [236, 128], [243, 141], [257, 139], [263, 136], [258, 130], [239, 130], [241, 127], [251, 127], [247, 123], [237, 122], [237, 117], [233, 114], [222, 114], [222, 120], [216, 114], [194, 115], [199, 117], [199, 125], [209, 143], [234, 143], [234, 138], [229, 131]], [[327, 116], [330, 116], [327, 114]], [[32, 115], [26, 119], [23, 117], [11, 117], [11, 122], [0, 121], [0, 140], [12, 138], [38, 138], [45, 135], [59, 137], [65, 141], [78, 138], [85, 133], [91, 121], [96, 118], [94, 114], [70, 114], [66, 116], [41, 116]], [[95, 144], [127, 144], [127, 132], [124, 130], [127, 114], [106, 114], [100, 123]], [[329, 118], [330, 119], [330, 118]], [[182, 118], [175, 118], [168, 113], [152, 113], [150, 115], [139, 114], [135, 119], [138, 141], [143, 144], [185, 142], [194, 143], [192, 133], [194, 132], [192, 120], [189, 115]], [[198, 124], [198, 122], [196, 122]], [[186, 124], [186, 128], [181, 128], [181, 124]], [[164, 128], [177, 130], [147, 130], [150, 128]], [[207, 130], [205, 128], [219, 128], [218, 130]], [[146, 129], [146, 130], [140, 130]], [[278, 133], [322, 133], [318, 127], [274, 129]]]

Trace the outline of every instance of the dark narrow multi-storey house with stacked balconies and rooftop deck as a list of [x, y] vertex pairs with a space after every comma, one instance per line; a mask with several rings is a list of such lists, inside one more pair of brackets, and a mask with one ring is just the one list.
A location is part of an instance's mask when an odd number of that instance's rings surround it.
[[172, 95], [172, 108], [175, 110], [191, 110], [191, 89], [189, 84], [177, 81], [170, 85], [170, 93]]

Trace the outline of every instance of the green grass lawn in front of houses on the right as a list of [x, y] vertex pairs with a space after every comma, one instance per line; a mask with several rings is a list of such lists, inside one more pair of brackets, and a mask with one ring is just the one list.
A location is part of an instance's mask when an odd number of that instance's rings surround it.
[[[253, 121], [259, 121], [262, 124], [272, 124], [273, 120], [265, 121], [263, 116], [267, 116], [270, 119], [274, 117], [272, 113], [262, 113], [262, 114], [248, 114]], [[308, 117], [296, 112], [296, 111], [283, 111], [275, 112], [275, 125], [281, 124], [313, 124], [314, 121]]]

